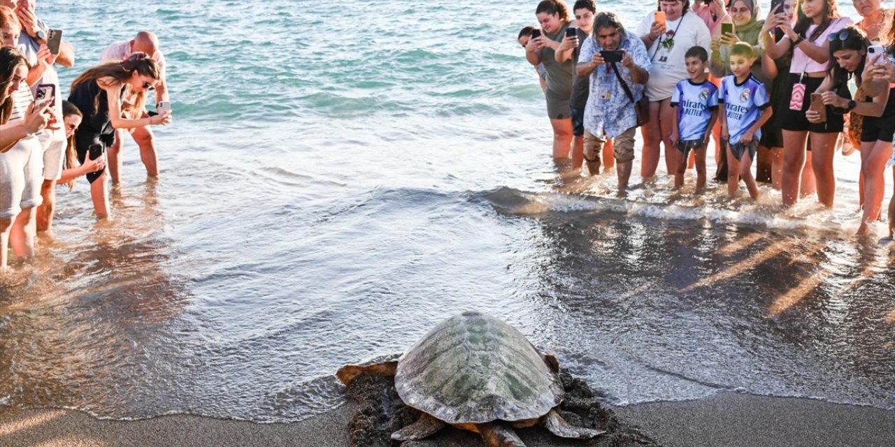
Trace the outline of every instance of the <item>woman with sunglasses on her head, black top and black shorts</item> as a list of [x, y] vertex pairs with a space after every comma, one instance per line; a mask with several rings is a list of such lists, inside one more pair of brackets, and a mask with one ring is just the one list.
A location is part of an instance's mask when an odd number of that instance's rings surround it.
[[[882, 197], [885, 195], [885, 164], [892, 153], [892, 133], [895, 133], [895, 96], [888, 83], [873, 80], [872, 64], [868, 61], [870, 41], [857, 28], [846, 28], [830, 35], [831, 66], [829, 74], [817, 89], [823, 94], [823, 104], [832, 107], [833, 114], [850, 112], [864, 116], [861, 131], [861, 173], [863, 174], [865, 203], [864, 216], [857, 230], [859, 236], [870, 231], [870, 223], [880, 218]], [[848, 94], [848, 80], [857, 82], [855, 100]], [[875, 83], [873, 89], [869, 85]], [[865, 88], [879, 91], [872, 99]], [[822, 122], [821, 114], [807, 112], [808, 122]]]

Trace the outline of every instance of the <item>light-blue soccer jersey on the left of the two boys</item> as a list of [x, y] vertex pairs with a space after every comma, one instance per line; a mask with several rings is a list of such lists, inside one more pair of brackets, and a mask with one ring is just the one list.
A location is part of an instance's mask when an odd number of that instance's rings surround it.
[[671, 94], [671, 106], [678, 107], [678, 138], [703, 139], [712, 110], [718, 108], [718, 88], [708, 80], [702, 84], [681, 80]]

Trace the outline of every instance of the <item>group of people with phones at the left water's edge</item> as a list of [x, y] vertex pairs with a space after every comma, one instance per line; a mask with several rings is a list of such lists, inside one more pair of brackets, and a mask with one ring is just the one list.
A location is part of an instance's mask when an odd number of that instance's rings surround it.
[[[171, 122], [165, 56], [153, 33], [108, 46], [65, 100], [56, 68], [71, 68], [75, 50], [39, 19], [36, 3], [0, 0], [0, 269], [10, 249], [34, 256], [37, 232], [53, 223], [57, 185], [71, 188], [85, 176], [96, 214], [109, 215], [108, 179], [121, 178], [126, 131], [157, 176], [149, 126]], [[145, 106], [150, 90], [156, 111]]]

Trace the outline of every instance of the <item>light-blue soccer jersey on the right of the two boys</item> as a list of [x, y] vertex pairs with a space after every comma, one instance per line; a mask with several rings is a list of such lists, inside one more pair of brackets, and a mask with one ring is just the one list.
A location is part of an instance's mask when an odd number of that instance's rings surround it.
[[[771, 105], [764, 84], [752, 75], [741, 85], [737, 85], [736, 76], [725, 76], [721, 80], [719, 101], [727, 116], [730, 144], [739, 143], [743, 134], [762, 116], [764, 107]], [[754, 139], [761, 138], [762, 130], [759, 129], [755, 131]]]

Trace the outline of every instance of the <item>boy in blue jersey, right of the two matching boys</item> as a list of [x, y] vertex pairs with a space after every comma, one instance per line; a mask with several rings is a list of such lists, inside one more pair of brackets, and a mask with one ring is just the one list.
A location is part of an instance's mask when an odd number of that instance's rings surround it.
[[771, 100], [764, 84], [750, 70], [755, 62], [754, 49], [745, 42], [730, 48], [730, 71], [721, 80], [719, 102], [723, 105], [721, 140], [727, 142], [728, 194], [736, 197], [739, 179], [753, 199], [758, 198], [758, 185], [752, 176], [752, 160], [762, 138], [762, 125], [771, 118]]

